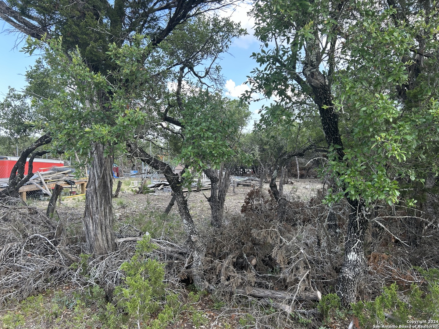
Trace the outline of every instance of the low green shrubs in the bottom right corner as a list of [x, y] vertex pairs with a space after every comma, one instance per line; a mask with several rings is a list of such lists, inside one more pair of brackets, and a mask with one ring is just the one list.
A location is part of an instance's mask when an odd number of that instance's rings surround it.
[[407, 325], [407, 320], [439, 320], [439, 271], [418, 268], [425, 276], [424, 286], [412, 285], [407, 299], [393, 283], [383, 287], [383, 293], [372, 301], [352, 304], [354, 315], [362, 328], [373, 325]]

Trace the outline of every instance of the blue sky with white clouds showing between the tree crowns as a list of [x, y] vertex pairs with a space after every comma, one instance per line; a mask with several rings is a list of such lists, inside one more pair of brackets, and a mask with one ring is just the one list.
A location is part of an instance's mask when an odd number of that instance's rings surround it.
[[[243, 2], [234, 10], [230, 9], [220, 13], [221, 16], [230, 17], [232, 20], [240, 22], [241, 26], [249, 32], [248, 36], [235, 39], [234, 43], [230, 46], [229, 54], [223, 54], [223, 60], [219, 62], [226, 79], [224, 86], [226, 95], [229, 97], [237, 97], [248, 88], [242, 84], [246, 81], [246, 76], [250, 75], [250, 71], [256, 66], [255, 61], [250, 58], [250, 55], [252, 52], [259, 50], [259, 42], [252, 35], [254, 21], [247, 15], [250, 9], [251, 5]], [[0, 26], [1, 31], [9, 28], [4, 22]], [[19, 51], [24, 44], [22, 39], [21, 34], [0, 33], [0, 99], [4, 98], [8, 86], [17, 90], [25, 86], [23, 75], [37, 58], [36, 56], [29, 57], [28, 54]], [[21, 42], [18, 43], [18, 41]], [[18, 46], [16, 46], [17, 43]], [[259, 103], [252, 103], [250, 104], [250, 109], [253, 113], [256, 113], [261, 105]]]

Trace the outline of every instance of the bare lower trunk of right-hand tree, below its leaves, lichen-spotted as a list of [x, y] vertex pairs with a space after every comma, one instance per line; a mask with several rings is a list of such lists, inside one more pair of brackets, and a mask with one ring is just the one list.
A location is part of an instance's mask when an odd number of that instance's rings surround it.
[[358, 283], [365, 269], [363, 244], [368, 224], [363, 200], [348, 200], [348, 202], [351, 209], [345, 242], [345, 257], [337, 287], [337, 295], [343, 307], [349, 307], [356, 301]]

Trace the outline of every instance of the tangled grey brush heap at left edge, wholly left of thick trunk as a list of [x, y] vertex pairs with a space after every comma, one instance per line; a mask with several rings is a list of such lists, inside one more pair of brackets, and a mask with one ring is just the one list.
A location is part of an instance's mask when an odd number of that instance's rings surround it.
[[0, 203], [0, 223], [0, 307], [72, 275], [78, 246], [65, 243], [62, 223], [20, 199]]

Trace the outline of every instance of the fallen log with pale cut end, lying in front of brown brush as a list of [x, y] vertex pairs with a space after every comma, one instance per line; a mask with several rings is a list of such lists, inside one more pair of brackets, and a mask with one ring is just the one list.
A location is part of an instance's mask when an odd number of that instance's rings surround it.
[[293, 296], [293, 294], [288, 293], [287, 291], [282, 290], [268, 290], [263, 288], [255, 288], [255, 287], [244, 287], [238, 286], [236, 288], [226, 287], [226, 291], [230, 291], [231, 293], [238, 293], [240, 295], [254, 296], [260, 298], [271, 298], [271, 299], [281, 299], [281, 300], [315, 300], [319, 301], [322, 299], [322, 294], [320, 291], [315, 292], [304, 292], [300, 296]]

